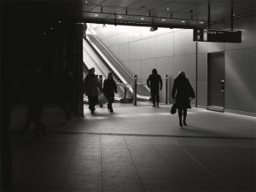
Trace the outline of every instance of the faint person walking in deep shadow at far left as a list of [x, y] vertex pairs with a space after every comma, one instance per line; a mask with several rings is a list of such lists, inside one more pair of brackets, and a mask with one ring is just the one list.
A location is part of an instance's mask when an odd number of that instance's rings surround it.
[[41, 68], [38, 65], [33, 66], [32, 73], [29, 75], [26, 83], [28, 111], [22, 135], [26, 134], [27, 128], [32, 122], [35, 125], [35, 136], [33, 137], [35, 140], [40, 138], [40, 131], [45, 135], [45, 125], [40, 122], [44, 104], [44, 82]]

